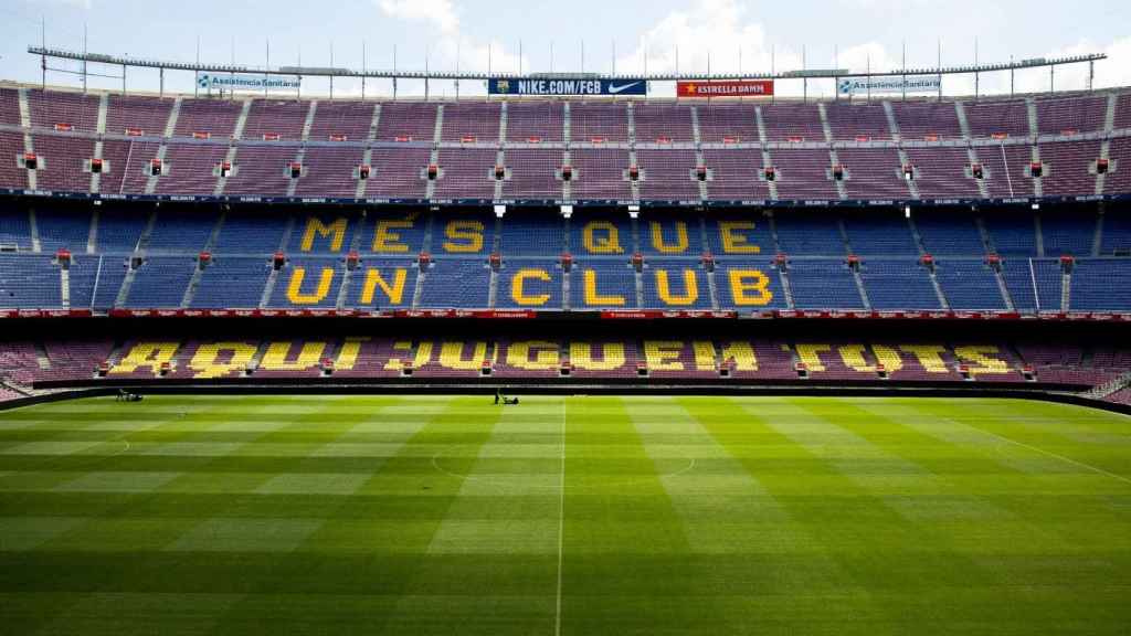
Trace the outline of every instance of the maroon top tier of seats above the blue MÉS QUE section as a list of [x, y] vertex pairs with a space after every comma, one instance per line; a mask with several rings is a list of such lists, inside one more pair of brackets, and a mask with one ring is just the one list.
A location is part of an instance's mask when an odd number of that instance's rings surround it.
[[[29, 123], [36, 130], [32, 147], [18, 132], [0, 131], [0, 154], [17, 157], [0, 162], [0, 188], [158, 197], [413, 200], [429, 192], [437, 199], [498, 196], [532, 201], [623, 201], [638, 196], [644, 201], [691, 204], [703, 196], [715, 201], [775, 197], [903, 201], [914, 199], [916, 192], [927, 200], [1131, 192], [1131, 138], [1124, 136], [1131, 128], [1126, 126], [1126, 111], [1131, 111], [1128, 95], [1119, 95], [1114, 113], [1107, 112], [1106, 95], [1035, 97], [1031, 121], [1029, 102], [1021, 98], [957, 103], [779, 101], [757, 105], [513, 101], [506, 103], [504, 114], [499, 101], [183, 97], [172, 138], [161, 140], [172, 122], [176, 100], [116, 94], [103, 100], [101, 95], [38, 89], [24, 93]], [[19, 124], [19, 95], [12, 89], [0, 93], [0, 124]], [[92, 179], [89, 163], [95, 158], [103, 103], [107, 136], [101, 151], [103, 170], [100, 179]], [[893, 121], [888, 117], [889, 108]], [[962, 137], [960, 111], [966, 113], [975, 143], [970, 148], [946, 145]], [[1115, 115], [1115, 129], [1103, 177], [1096, 171], [1103, 140], [1048, 138], [1108, 135], [1104, 130], [1108, 114]], [[437, 126], [441, 118], [442, 124]], [[503, 121], [507, 129], [501, 135]], [[567, 130], [570, 139], [566, 139]], [[240, 139], [234, 139], [236, 132]], [[758, 147], [762, 139], [772, 146]], [[915, 169], [916, 183], [904, 179], [897, 147], [861, 147], [855, 145], [858, 141], [907, 145], [904, 149]], [[232, 161], [234, 173], [224, 183], [217, 174], [233, 143], [239, 144]], [[558, 146], [562, 143], [570, 145]], [[697, 143], [701, 146], [690, 149]], [[793, 147], [794, 143], [804, 145]], [[838, 154], [836, 161], [829, 153], [830, 143]], [[162, 144], [162, 174], [153, 178], [152, 163]], [[430, 189], [425, 172], [435, 144], [441, 145], [440, 174], [435, 188]], [[509, 172], [498, 190], [490, 177], [483, 182], [478, 175], [493, 174], [498, 157], [492, 151], [501, 144], [509, 146], [504, 148]], [[528, 147], [544, 144], [555, 147], [544, 154], [526, 154]], [[618, 147], [594, 148], [602, 145]], [[638, 188], [629, 178], [627, 145], [637, 146]], [[665, 148], [667, 145], [684, 147]], [[559, 148], [561, 158], [552, 158]], [[19, 163], [28, 151], [37, 158], [34, 173]], [[369, 179], [363, 181], [361, 166], [368, 155], [372, 155]], [[300, 157], [301, 174], [292, 179], [291, 163]], [[707, 171], [705, 183], [694, 174], [700, 160]], [[1039, 179], [1030, 174], [1035, 161], [1043, 167]], [[839, 188], [834, 163], [844, 167]], [[568, 188], [561, 187], [561, 167], [567, 164], [572, 167]], [[981, 181], [974, 178], [975, 166], [981, 167]], [[767, 169], [772, 169], [776, 183], [768, 181]], [[444, 172], [450, 173], [447, 180]]]

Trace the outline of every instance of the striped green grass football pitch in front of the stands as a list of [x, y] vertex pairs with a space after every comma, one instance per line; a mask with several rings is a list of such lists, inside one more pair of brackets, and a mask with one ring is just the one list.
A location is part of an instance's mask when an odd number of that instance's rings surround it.
[[0, 633], [1128, 634], [1131, 419], [998, 399], [0, 413]]

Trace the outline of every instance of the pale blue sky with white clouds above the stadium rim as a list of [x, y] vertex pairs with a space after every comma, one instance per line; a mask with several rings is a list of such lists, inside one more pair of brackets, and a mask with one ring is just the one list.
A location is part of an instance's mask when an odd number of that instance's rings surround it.
[[[942, 42], [944, 65], [1105, 52], [1096, 67], [1098, 86], [1131, 85], [1131, 2], [1046, 0], [979, 2], [968, 0], [840, 0], [830, 2], [756, 2], [751, 0], [654, 0], [608, 2], [573, 0], [569, 9], [550, 0], [300, 0], [195, 2], [170, 0], [0, 0], [0, 78], [38, 81], [40, 61], [26, 53], [38, 43], [41, 18], [49, 46], [80, 50], [84, 25], [94, 52], [191, 61], [197, 42], [201, 60], [362, 67], [362, 42], [369, 68], [517, 71], [521, 43], [524, 71], [581, 69], [584, 41], [587, 71], [675, 70], [767, 71], [801, 68], [898, 68], [906, 43], [907, 65], [934, 65]], [[615, 58], [613, 46], [615, 45]], [[551, 57], [551, 49], [553, 55]], [[677, 54], [676, 54], [677, 51]], [[740, 62], [741, 60], [741, 62]], [[62, 65], [62, 62], [55, 62]], [[740, 66], [741, 65], [741, 66]], [[74, 66], [71, 66], [74, 68]], [[92, 67], [92, 71], [95, 68]], [[120, 69], [100, 69], [110, 75]], [[1057, 88], [1082, 88], [1087, 68], [1057, 71]], [[128, 75], [131, 89], [156, 91], [155, 71]], [[53, 84], [78, 85], [78, 78], [52, 74]], [[1009, 88], [1008, 75], [983, 76], [984, 92]], [[90, 86], [121, 86], [120, 79], [93, 78]], [[1045, 89], [1045, 71], [1017, 76], [1017, 87]], [[166, 87], [189, 92], [192, 77], [166, 77]], [[325, 83], [309, 80], [304, 91], [325, 94]], [[411, 83], [402, 94], [420, 93]], [[779, 84], [778, 92], [800, 92]], [[339, 80], [336, 94], [356, 94], [356, 81]], [[388, 83], [369, 85], [369, 94], [387, 94]], [[482, 93], [461, 85], [461, 94]], [[810, 94], [830, 95], [831, 83], [810, 85]], [[944, 91], [973, 92], [973, 78], [948, 78]], [[450, 83], [433, 94], [454, 95]]]

